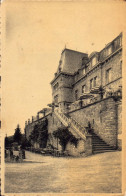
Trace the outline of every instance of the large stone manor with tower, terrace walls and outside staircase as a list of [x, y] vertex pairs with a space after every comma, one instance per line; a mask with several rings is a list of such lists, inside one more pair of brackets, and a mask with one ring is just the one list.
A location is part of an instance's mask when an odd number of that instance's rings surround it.
[[[52, 103], [26, 121], [28, 140], [35, 125], [46, 119], [45, 148], [62, 150], [53, 132], [66, 127], [77, 139], [77, 145], [71, 142], [66, 145], [65, 151], [70, 155], [121, 149], [122, 33], [100, 52], [90, 55], [65, 48], [51, 88]], [[34, 142], [34, 147], [41, 144]]]

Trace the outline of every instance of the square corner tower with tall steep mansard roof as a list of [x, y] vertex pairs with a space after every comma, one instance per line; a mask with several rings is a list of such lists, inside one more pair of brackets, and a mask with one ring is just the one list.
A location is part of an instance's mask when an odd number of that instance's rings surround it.
[[82, 59], [88, 55], [78, 51], [64, 49], [61, 53], [57, 72], [51, 81], [52, 99], [65, 112], [73, 102], [74, 75], [81, 68]]

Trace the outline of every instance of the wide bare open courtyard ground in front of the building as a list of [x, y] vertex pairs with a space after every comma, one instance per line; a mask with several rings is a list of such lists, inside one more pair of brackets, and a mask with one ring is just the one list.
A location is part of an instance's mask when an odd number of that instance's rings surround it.
[[121, 152], [58, 158], [26, 152], [5, 164], [6, 193], [120, 193]]

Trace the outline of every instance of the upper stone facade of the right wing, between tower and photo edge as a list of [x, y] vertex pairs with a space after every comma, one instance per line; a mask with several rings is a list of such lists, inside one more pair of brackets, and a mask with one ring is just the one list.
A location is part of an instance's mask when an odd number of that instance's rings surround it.
[[[106, 71], [111, 68], [111, 81], [107, 83]], [[92, 67], [93, 69], [93, 67]], [[82, 86], [86, 85], [86, 92], [90, 89], [90, 80], [97, 76], [97, 86], [104, 86], [106, 90], [109, 88], [118, 90], [119, 86], [122, 85], [122, 51], [118, 52], [115, 56], [111, 57], [110, 60], [104, 62], [102, 66], [96, 66], [95, 69], [90, 73], [85, 74], [83, 79], [78, 80], [74, 84], [73, 97], [75, 100], [75, 91], [78, 90], [78, 97], [82, 94]], [[79, 79], [79, 75], [78, 75]]]

